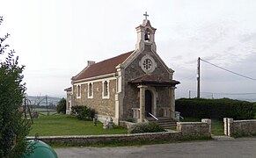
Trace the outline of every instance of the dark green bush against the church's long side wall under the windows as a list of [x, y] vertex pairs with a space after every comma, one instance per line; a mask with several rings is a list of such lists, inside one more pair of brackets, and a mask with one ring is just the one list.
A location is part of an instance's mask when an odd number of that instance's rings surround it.
[[94, 118], [95, 110], [84, 105], [76, 105], [71, 107], [71, 114], [78, 119], [92, 119]]

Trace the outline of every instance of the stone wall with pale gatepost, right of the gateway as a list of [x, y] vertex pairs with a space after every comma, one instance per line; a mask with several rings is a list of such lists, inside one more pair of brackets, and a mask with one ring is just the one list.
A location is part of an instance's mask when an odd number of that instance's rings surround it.
[[234, 120], [233, 118], [223, 118], [223, 122], [225, 135], [256, 135], [256, 119]]

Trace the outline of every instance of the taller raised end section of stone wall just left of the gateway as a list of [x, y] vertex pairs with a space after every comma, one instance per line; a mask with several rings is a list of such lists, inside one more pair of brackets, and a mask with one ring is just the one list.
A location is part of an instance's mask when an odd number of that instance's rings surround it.
[[201, 122], [177, 122], [177, 131], [184, 137], [210, 137], [211, 120], [201, 119]]

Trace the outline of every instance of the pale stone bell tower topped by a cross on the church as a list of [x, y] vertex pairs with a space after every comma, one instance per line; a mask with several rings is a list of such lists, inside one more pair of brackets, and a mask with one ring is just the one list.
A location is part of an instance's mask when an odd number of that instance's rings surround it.
[[137, 31], [137, 43], [135, 45], [136, 49], [144, 50], [145, 45], [150, 45], [151, 50], [156, 52], [155, 44], [155, 32], [156, 28], [150, 25], [150, 20], [148, 20], [149, 15], [147, 11], [143, 14], [145, 18], [143, 19], [143, 24], [136, 27]]

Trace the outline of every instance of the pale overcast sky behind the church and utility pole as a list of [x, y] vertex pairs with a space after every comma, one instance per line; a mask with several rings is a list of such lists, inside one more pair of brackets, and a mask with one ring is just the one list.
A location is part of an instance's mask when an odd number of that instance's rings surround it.
[[[145, 11], [177, 97], [195, 97], [198, 57], [256, 78], [255, 0], [1, 0], [0, 35], [26, 65], [28, 95], [60, 97], [87, 61], [135, 49]], [[201, 62], [201, 91], [256, 93], [256, 81]]]

